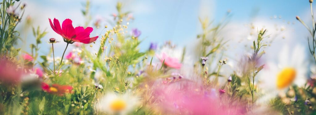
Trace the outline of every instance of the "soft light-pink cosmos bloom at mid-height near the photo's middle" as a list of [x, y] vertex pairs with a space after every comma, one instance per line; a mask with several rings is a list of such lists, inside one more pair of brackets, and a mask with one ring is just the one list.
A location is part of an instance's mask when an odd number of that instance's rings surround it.
[[160, 58], [161, 63], [164, 62], [164, 65], [170, 67], [170, 68], [176, 68], [179, 69], [181, 68], [182, 64], [179, 63], [178, 58], [172, 58], [168, 57], [166, 53], [162, 53], [162, 57]]

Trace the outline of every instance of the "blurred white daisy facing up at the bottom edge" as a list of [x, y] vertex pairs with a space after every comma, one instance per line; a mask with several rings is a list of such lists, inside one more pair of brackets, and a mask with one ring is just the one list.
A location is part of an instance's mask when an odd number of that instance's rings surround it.
[[138, 99], [129, 94], [118, 95], [108, 93], [97, 103], [98, 111], [107, 114], [126, 115], [138, 105]]

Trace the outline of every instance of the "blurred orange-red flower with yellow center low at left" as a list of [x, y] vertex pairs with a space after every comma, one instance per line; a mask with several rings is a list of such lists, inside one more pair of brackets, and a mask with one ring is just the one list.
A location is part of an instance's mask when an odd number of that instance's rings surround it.
[[49, 86], [46, 83], [42, 83], [42, 90], [46, 91], [47, 93], [50, 94], [56, 94], [59, 96], [63, 96], [65, 93], [71, 93], [72, 86], [70, 85], [58, 85], [58, 84], [53, 84], [52, 86]]

